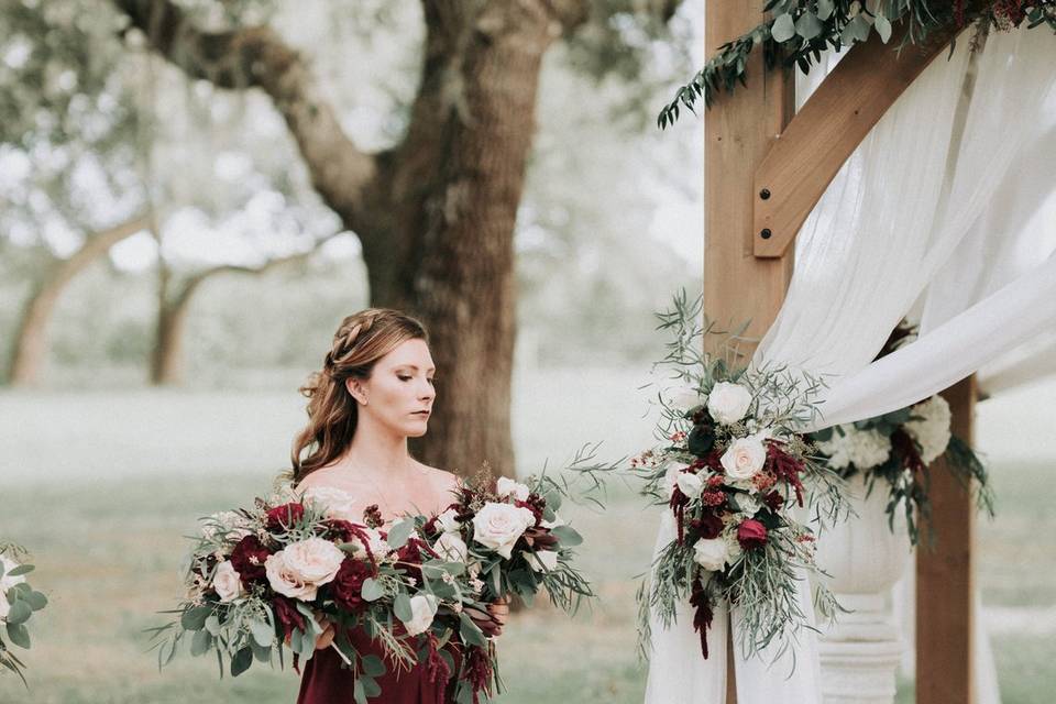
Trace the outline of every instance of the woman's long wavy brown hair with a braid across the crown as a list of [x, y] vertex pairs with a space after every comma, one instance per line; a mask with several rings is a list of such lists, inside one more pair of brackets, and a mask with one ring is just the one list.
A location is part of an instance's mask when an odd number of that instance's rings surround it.
[[398, 310], [367, 308], [341, 321], [322, 370], [300, 387], [308, 397], [308, 425], [294, 440], [294, 483], [341, 457], [355, 435], [358, 408], [345, 387], [366, 380], [380, 359], [407, 340], [429, 341], [425, 326]]

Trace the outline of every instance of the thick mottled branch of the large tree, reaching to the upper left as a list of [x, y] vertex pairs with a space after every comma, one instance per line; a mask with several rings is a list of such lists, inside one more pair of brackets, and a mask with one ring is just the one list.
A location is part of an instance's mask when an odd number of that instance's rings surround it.
[[312, 186], [361, 238], [375, 155], [344, 133], [308, 62], [267, 26], [205, 32], [170, 0], [114, 0], [151, 45], [191, 78], [220, 88], [261, 88], [283, 116], [308, 165]]

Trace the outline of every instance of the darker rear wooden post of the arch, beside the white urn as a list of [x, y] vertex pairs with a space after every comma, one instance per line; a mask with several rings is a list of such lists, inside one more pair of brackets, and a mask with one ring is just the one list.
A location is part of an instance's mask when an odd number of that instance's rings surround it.
[[[954, 435], [971, 444], [975, 376], [943, 396], [954, 413]], [[936, 542], [916, 552], [916, 702], [972, 704], [975, 501], [943, 461], [932, 465], [930, 496]]]

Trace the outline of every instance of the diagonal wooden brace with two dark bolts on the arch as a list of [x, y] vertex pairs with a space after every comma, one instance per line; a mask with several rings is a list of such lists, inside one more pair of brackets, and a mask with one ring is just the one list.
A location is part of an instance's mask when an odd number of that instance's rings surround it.
[[[856, 44], [795, 114], [759, 165], [754, 194], [754, 251], [779, 257], [847, 158], [953, 36], [909, 45], [877, 34]], [[739, 89], [738, 89], [739, 90]]]

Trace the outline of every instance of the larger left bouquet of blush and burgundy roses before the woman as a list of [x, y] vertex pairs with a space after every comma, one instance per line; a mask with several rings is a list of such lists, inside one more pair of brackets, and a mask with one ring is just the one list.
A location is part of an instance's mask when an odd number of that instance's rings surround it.
[[[186, 571], [187, 597], [177, 618], [150, 629], [164, 666], [186, 636], [194, 656], [215, 652], [232, 676], [254, 660], [283, 662], [283, 647], [311, 658], [322, 622], [334, 626], [332, 647], [355, 672], [354, 700], [365, 704], [381, 689], [385, 660], [397, 668], [424, 663], [447, 680], [462, 654], [465, 694], [473, 701], [490, 684], [494, 652], [471, 615], [486, 603], [469, 586], [465, 564], [442, 558], [422, 538], [424, 518], [404, 518], [387, 531], [376, 507], [359, 519], [352, 498], [332, 488], [290, 490], [253, 508], [202, 520]], [[487, 619], [483, 623], [486, 627]], [[361, 654], [348, 634], [363, 629], [385, 659]], [[469, 700], [466, 700], [469, 697]]]

